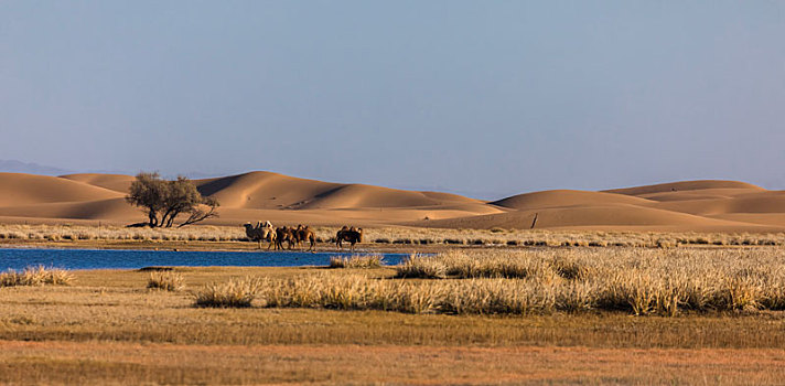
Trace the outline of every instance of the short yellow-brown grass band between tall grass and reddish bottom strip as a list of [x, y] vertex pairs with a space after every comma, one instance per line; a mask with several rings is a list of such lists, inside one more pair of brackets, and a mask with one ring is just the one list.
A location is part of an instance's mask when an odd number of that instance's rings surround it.
[[[269, 278], [343, 270], [287, 270]], [[278, 271], [278, 270], [276, 270]], [[192, 272], [200, 274], [194, 281]], [[247, 274], [201, 268], [186, 286]], [[148, 291], [147, 275], [132, 271], [75, 272], [78, 286], [0, 290], [0, 341], [74, 341], [197, 345], [362, 344], [439, 346], [587, 346], [636, 349], [785, 350], [785, 313], [689, 313], [680, 318], [631, 318], [622, 312], [556, 312], [526, 318], [477, 314], [412, 314], [336, 311], [323, 308], [194, 308], [185, 292]]]

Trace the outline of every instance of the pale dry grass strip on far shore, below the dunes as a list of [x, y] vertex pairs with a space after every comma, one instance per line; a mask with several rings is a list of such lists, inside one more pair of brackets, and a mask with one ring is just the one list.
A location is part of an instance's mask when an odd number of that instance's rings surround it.
[[[276, 224], [279, 225], [279, 224]], [[280, 224], [283, 225], [283, 224]], [[286, 224], [295, 225], [295, 224]], [[333, 248], [338, 227], [313, 227], [323, 248]], [[246, 243], [244, 228], [197, 225], [184, 228], [127, 228], [122, 226], [86, 225], [22, 225], [0, 224], [0, 243], [3, 244], [79, 244], [122, 246], [148, 244], [192, 245], [227, 249], [256, 248]], [[783, 246], [783, 233], [654, 233], [604, 230], [521, 230], [521, 229], [444, 229], [415, 227], [365, 228], [365, 244], [376, 246], [539, 246], [539, 247], [647, 247], [670, 248], [697, 246]]]

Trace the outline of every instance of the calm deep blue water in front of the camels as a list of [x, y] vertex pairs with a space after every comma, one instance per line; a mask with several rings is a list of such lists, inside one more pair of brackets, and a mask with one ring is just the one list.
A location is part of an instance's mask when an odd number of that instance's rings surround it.
[[[350, 256], [350, 254], [0, 248], [0, 270], [19, 270], [37, 265], [65, 269], [135, 269], [149, 266], [326, 266], [333, 256]], [[396, 265], [408, 255], [383, 254], [383, 256], [384, 264]]]

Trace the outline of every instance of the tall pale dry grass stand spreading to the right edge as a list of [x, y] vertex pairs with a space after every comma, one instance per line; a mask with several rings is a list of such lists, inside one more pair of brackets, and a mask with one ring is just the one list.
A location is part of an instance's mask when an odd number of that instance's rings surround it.
[[268, 280], [260, 297], [267, 307], [410, 313], [604, 310], [675, 317], [682, 311], [785, 310], [785, 261], [778, 248], [449, 251], [413, 255], [396, 277], [401, 279], [315, 275]]

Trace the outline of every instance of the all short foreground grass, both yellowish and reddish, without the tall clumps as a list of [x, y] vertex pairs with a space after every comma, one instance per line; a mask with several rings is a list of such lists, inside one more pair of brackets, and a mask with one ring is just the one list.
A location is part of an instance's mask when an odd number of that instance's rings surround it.
[[[622, 254], [633, 253], [637, 250]], [[391, 268], [364, 275], [320, 268], [178, 271], [189, 288], [244, 275], [268, 282], [324, 276], [350, 287], [357, 276], [405, 286], [533, 280], [394, 280]], [[264, 287], [252, 301], [257, 307], [213, 309], [194, 308], [186, 292], [146, 290], [149, 272], [72, 274], [75, 286], [0, 290], [3, 383], [776, 385], [785, 376], [783, 311], [688, 312], [679, 318], [347, 312], [265, 308]], [[340, 293], [333, 302], [347, 303]]]

